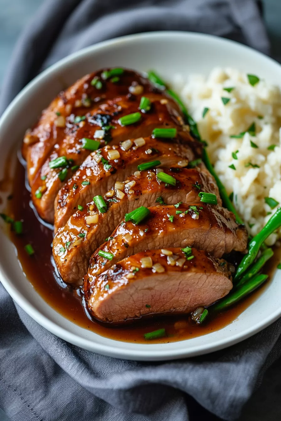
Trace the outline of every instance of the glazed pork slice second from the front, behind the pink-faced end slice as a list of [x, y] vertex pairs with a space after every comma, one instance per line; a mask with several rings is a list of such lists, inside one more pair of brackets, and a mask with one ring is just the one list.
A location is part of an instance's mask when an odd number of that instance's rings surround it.
[[[196, 208], [194, 208], [196, 206]], [[131, 254], [166, 247], [194, 247], [220, 258], [231, 250], [243, 252], [247, 232], [238, 226], [233, 213], [220, 206], [183, 203], [149, 208], [150, 215], [139, 225], [122, 221], [91, 256], [87, 277], [96, 277]], [[110, 253], [110, 260], [99, 253]]]

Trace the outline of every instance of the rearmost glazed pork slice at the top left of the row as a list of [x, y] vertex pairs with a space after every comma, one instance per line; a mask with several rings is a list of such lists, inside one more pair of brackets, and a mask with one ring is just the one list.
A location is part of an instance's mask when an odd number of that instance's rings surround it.
[[[139, 100], [142, 95], [150, 93], [159, 97], [163, 95], [155, 90], [149, 80], [138, 73], [124, 69], [118, 83], [111, 79], [102, 80], [101, 74], [108, 69], [88, 74], [59, 95], [46, 108], [34, 125], [24, 136], [22, 155], [27, 160], [29, 184], [32, 185], [37, 172], [43, 165], [55, 144], [59, 144], [75, 128], [74, 118], [83, 117], [89, 112], [89, 107], [98, 106], [108, 99], [127, 95], [133, 85], [141, 86], [143, 92], [135, 95]], [[91, 80], [98, 77], [102, 81], [102, 88], [91, 85]], [[130, 94], [131, 95], [131, 94]], [[58, 117], [60, 117], [58, 119]], [[63, 118], [61, 118], [63, 117]], [[62, 124], [65, 121], [65, 124]]]

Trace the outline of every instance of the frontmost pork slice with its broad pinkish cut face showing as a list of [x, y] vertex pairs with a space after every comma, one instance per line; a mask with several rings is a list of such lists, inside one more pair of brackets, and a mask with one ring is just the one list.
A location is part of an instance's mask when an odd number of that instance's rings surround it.
[[227, 295], [232, 288], [227, 262], [203, 250], [191, 253], [194, 257], [186, 260], [180, 248], [145, 251], [112, 265], [92, 285], [86, 278], [90, 313], [118, 323], [149, 314], [190, 313]]

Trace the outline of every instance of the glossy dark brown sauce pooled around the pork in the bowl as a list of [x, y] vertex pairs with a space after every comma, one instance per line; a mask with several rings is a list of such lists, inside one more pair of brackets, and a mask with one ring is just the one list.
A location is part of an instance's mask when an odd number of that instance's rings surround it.
[[[79, 290], [73, 290], [59, 278], [56, 269], [52, 264], [53, 232], [48, 227], [40, 223], [30, 206], [29, 191], [25, 187], [25, 171], [17, 160], [16, 173], [13, 181], [13, 190], [8, 200], [7, 213], [15, 220], [22, 220], [24, 232], [16, 235], [10, 232], [12, 242], [18, 250], [18, 259], [29, 282], [43, 299], [58, 313], [82, 328], [106, 336], [117, 341], [127, 341], [136, 343], [169, 343], [181, 341], [205, 335], [215, 330], [224, 328], [237, 319], [244, 309], [246, 309], [262, 291], [267, 288], [269, 280], [252, 295], [241, 301], [233, 308], [221, 312], [214, 318], [201, 326], [195, 325], [186, 316], [162, 316], [151, 317], [150, 319], [137, 320], [123, 326], [114, 327], [110, 324], [90, 320], [83, 308], [82, 297]], [[35, 250], [33, 256], [28, 256], [24, 250], [24, 245], [31, 244]], [[280, 253], [275, 253], [270, 262], [265, 266], [264, 272], [273, 274], [279, 263]], [[271, 272], [270, 273], [270, 268]], [[185, 327], [179, 330], [174, 328], [174, 323], [185, 321]], [[143, 334], [166, 328], [167, 337], [154, 341], [145, 341]]]

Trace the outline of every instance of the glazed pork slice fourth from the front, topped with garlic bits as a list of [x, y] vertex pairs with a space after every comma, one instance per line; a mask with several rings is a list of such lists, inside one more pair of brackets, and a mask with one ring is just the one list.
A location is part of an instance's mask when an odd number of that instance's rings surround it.
[[[67, 222], [78, 204], [84, 206], [94, 196], [104, 195], [114, 186], [115, 181], [125, 181], [137, 171], [139, 164], [159, 160], [161, 164], [158, 166], [179, 168], [182, 160], [185, 160], [187, 165], [188, 161], [194, 158], [192, 149], [181, 143], [180, 135], [171, 143], [153, 139], [151, 136], [142, 139], [145, 144], [141, 147], [134, 145], [134, 139], [131, 140], [128, 150], [124, 150], [122, 145], [115, 146], [119, 155], [117, 159], [110, 159], [114, 148], [110, 145], [92, 152], [86, 158], [56, 197], [55, 229]], [[89, 184], [83, 185], [85, 181]], [[44, 195], [40, 200], [44, 200]]]

